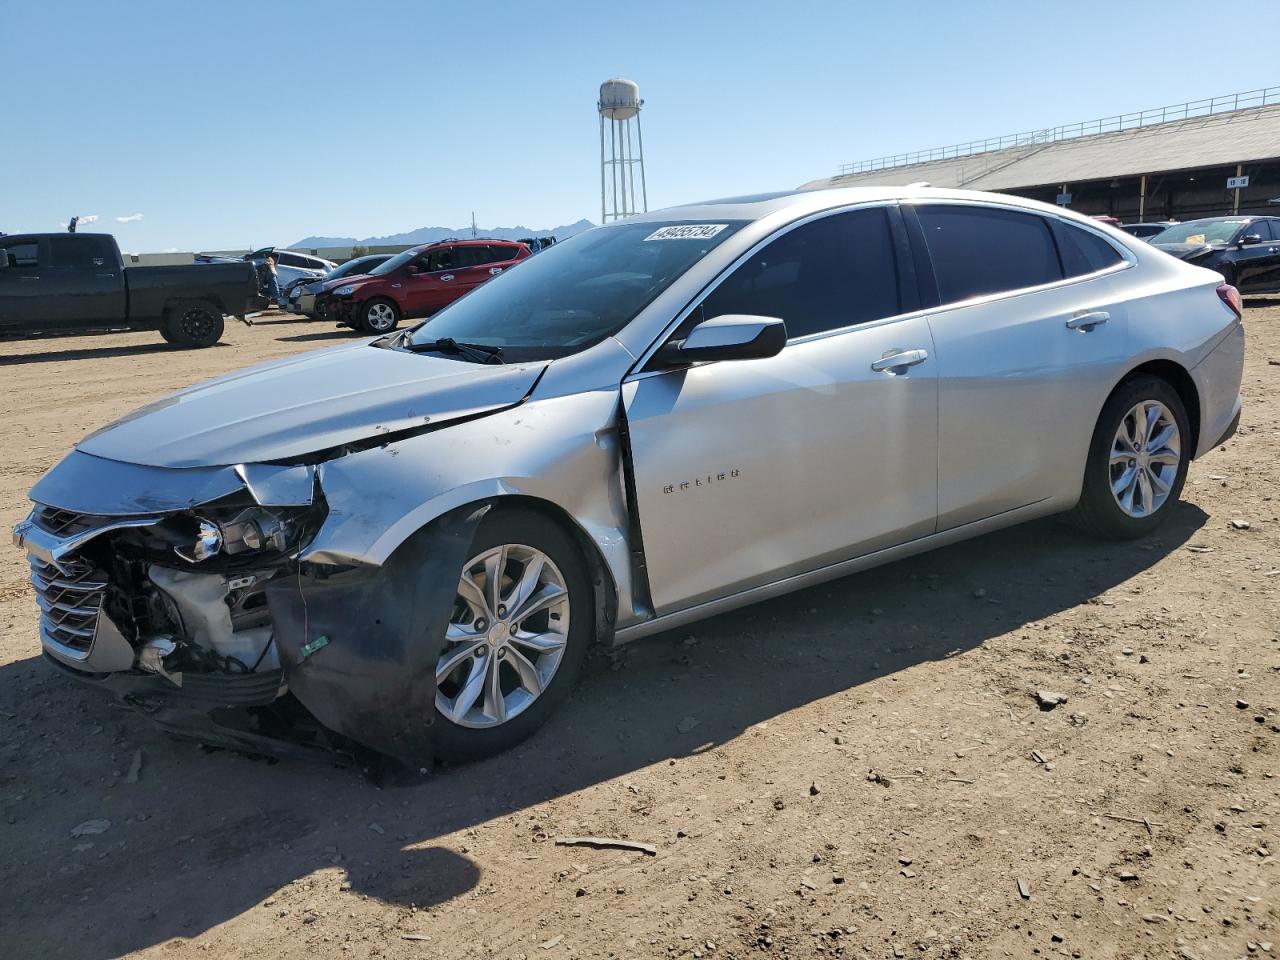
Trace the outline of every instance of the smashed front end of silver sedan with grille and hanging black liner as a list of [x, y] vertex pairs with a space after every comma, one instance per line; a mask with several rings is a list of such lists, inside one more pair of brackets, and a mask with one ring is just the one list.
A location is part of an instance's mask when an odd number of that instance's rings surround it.
[[430, 637], [483, 511], [367, 566], [303, 558], [329, 513], [315, 465], [169, 470], [77, 451], [31, 495], [14, 543], [63, 672], [201, 742], [430, 765]]

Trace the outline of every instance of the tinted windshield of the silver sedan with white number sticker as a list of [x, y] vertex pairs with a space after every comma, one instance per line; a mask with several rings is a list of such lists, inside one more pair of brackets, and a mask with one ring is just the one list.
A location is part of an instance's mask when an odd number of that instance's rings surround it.
[[568, 356], [612, 337], [745, 221], [618, 223], [588, 230], [442, 310], [410, 344], [452, 338], [506, 360]]

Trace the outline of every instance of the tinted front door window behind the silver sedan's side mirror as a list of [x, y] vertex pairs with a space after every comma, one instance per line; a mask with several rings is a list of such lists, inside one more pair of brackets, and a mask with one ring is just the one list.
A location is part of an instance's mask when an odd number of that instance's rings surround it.
[[703, 301], [703, 317], [777, 316], [791, 339], [901, 312], [883, 209], [835, 214], [758, 251]]

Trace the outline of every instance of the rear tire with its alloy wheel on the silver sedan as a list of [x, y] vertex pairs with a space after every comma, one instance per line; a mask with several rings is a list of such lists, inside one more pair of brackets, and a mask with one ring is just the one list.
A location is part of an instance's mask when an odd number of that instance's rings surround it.
[[[1155, 417], [1149, 434], [1137, 422], [1138, 411]], [[1193, 453], [1190, 424], [1178, 392], [1157, 376], [1126, 380], [1098, 416], [1071, 520], [1098, 538], [1146, 536], [1172, 513]]]

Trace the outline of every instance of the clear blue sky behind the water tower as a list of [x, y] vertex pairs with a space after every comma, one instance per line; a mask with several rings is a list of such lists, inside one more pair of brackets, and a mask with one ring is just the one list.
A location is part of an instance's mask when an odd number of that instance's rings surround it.
[[596, 220], [609, 77], [645, 99], [657, 207], [1280, 84], [1277, 36], [1277, 3], [1202, 0], [0, 0], [0, 230], [97, 215], [159, 251]]

